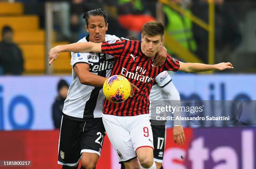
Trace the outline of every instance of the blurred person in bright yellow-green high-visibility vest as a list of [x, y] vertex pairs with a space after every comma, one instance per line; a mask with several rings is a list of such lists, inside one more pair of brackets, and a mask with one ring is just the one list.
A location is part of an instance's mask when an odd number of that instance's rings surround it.
[[[182, 7], [186, 13], [191, 13], [189, 8], [187, 8], [190, 5], [190, 0], [170, 1]], [[195, 53], [197, 50], [197, 44], [192, 32], [192, 20], [167, 5], [164, 5], [163, 11], [165, 14], [164, 23], [166, 32], [171, 35], [172, 38], [177, 40], [184, 48]]]

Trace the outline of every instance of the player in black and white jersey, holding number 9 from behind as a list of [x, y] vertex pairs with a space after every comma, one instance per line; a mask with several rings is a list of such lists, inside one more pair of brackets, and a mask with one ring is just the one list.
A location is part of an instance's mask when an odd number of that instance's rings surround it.
[[[119, 39], [115, 35], [106, 35], [107, 14], [102, 9], [88, 11], [84, 19], [90, 34], [79, 43]], [[165, 51], [164, 48], [159, 51], [158, 63], [166, 58]], [[62, 164], [63, 169], [75, 169], [82, 156], [84, 168], [95, 168], [105, 136], [102, 85], [110, 76], [114, 57], [103, 53], [71, 54], [73, 81], [63, 108], [58, 164]]]

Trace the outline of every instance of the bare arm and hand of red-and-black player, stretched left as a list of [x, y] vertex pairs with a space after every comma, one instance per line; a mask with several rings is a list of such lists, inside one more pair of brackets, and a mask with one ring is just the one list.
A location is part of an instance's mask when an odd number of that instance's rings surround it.
[[80, 43], [71, 43], [68, 45], [58, 45], [48, 52], [49, 54], [49, 65], [53, 63], [56, 58], [58, 58], [59, 53], [61, 52], [77, 52], [77, 53], [84, 53], [84, 52], [101, 52], [101, 44], [102, 43], [93, 43], [93, 42], [80, 42]]

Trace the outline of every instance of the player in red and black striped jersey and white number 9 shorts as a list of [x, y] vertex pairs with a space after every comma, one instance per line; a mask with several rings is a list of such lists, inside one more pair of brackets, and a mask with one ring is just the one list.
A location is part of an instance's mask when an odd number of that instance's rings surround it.
[[141, 42], [121, 39], [104, 43], [73, 43], [56, 46], [49, 51], [49, 63], [52, 63], [60, 52], [97, 52], [113, 55], [116, 58], [112, 75], [125, 76], [139, 88], [134, 92], [133, 98], [128, 98], [123, 103], [105, 100], [103, 107], [102, 119], [106, 132], [125, 168], [138, 168], [138, 156], [142, 168], [156, 169], [148, 116], [148, 96], [159, 73], [164, 70], [190, 73], [233, 68], [231, 63], [182, 63], [170, 55], [167, 55], [164, 65], [154, 67], [152, 58], [163, 40], [164, 25], [151, 21], [143, 25]]

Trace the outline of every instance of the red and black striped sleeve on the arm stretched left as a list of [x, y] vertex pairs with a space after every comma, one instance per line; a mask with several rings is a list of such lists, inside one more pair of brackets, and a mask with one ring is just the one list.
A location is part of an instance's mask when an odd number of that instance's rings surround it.
[[120, 40], [109, 40], [107, 42], [103, 42], [101, 45], [101, 51], [102, 53], [106, 53], [114, 57], [120, 57], [125, 47], [125, 41], [126, 40], [124, 39], [120, 39]]

